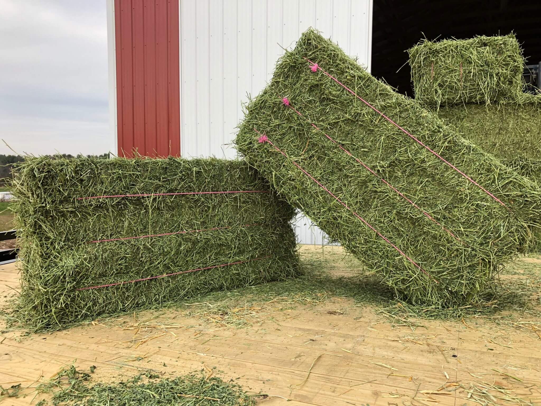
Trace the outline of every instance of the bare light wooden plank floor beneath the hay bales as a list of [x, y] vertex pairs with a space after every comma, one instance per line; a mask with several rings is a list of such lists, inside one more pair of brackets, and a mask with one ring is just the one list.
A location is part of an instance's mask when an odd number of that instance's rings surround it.
[[[321, 247], [302, 252], [316, 256]], [[541, 260], [526, 260], [541, 268]], [[347, 272], [337, 264], [337, 274]], [[0, 265], [2, 300], [17, 286], [15, 264]], [[46, 381], [75, 363], [96, 365], [95, 382], [148, 369], [169, 377], [216, 368], [247, 391], [271, 395], [261, 405], [461, 406], [485, 404], [476, 402], [482, 391], [493, 404], [541, 404], [541, 320], [522, 318], [521, 328], [486, 319], [422, 320], [423, 328], [411, 328], [346, 298], [281, 309], [273, 301], [250, 309], [243, 328], [186, 309], [30, 336], [0, 326], [0, 385]], [[31, 404], [33, 396], [0, 404]]]

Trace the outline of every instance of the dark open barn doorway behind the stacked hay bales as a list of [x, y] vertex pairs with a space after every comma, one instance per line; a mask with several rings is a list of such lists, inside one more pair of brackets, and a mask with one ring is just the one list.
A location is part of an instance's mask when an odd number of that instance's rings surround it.
[[434, 40], [505, 35], [511, 31], [524, 49], [527, 64], [538, 64], [541, 61], [539, 1], [374, 0], [372, 75], [413, 97], [405, 51], [423, 38], [423, 34]]

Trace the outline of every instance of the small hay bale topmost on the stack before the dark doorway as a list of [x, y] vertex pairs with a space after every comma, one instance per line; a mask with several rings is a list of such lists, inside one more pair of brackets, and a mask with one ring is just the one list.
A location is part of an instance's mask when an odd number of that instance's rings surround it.
[[422, 40], [408, 50], [415, 100], [430, 106], [503, 102], [522, 92], [524, 57], [513, 34]]

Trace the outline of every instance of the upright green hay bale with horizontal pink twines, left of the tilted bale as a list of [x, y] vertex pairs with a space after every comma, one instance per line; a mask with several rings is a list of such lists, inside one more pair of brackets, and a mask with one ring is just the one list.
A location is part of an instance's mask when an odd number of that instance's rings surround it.
[[[12, 191], [22, 259], [15, 316], [36, 329], [299, 272], [294, 209], [242, 161], [27, 157]], [[217, 191], [263, 192], [77, 200]], [[208, 231], [90, 242], [192, 230]], [[237, 261], [246, 262], [77, 290]]]

